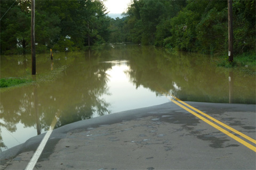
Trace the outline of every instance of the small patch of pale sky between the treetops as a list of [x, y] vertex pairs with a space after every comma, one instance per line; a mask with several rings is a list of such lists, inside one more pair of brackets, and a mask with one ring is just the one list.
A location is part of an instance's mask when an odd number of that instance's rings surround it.
[[106, 0], [105, 6], [108, 8], [109, 14], [123, 13], [131, 0]]

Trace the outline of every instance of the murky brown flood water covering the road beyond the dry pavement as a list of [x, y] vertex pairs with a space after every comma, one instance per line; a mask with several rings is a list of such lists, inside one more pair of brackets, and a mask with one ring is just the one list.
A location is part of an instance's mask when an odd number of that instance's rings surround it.
[[[106, 46], [87, 52], [37, 54], [36, 83], [1, 89], [4, 151], [86, 118], [169, 102], [255, 104], [255, 74], [217, 67], [214, 58], [151, 46]], [[1, 78], [31, 77], [31, 55], [1, 56]]]

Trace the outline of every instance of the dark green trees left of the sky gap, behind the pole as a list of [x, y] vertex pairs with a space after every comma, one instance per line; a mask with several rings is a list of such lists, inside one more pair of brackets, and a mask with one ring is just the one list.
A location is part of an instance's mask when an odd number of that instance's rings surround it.
[[[37, 53], [84, 49], [109, 39], [110, 18], [100, 0], [36, 1], [35, 7]], [[30, 8], [31, 0], [1, 0], [1, 54], [30, 53]]]

